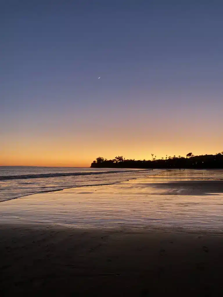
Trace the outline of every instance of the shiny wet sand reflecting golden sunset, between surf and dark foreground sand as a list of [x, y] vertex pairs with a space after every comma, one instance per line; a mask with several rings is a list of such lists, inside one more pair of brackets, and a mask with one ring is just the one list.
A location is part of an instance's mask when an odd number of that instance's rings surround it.
[[[221, 178], [219, 173], [215, 178]], [[81, 228], [222, 234], [222, 180], [198, 171], [162, 172], [109, 185], [88, 185], [1, 202], [1, 222]]]

